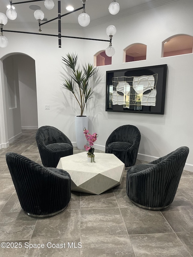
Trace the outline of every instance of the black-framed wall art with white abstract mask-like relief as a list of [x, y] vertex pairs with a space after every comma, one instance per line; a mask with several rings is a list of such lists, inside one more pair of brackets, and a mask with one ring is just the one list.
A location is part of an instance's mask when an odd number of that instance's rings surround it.
[[167, 64], [106, 71], [106, 111], [164, 114]]

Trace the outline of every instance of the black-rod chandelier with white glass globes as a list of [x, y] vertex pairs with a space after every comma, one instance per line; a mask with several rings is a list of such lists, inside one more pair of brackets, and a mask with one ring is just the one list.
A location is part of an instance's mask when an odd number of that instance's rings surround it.
[[[39, 33], [34, 33], [34, 32], [26, 32], [26, 31], [14, 31], [14, 30], [4, 30], [3, 26], [7, 24], [8, 19], [10, 20], [15, 20], [17, 18], [17, 12], [15, 11], [15, 7], [12, 5], [17, 5], [17, 4], [24, 4], [24, 3], [30, 3], [30, 2], [38, 2], [38, 1], [44, 1], [44, 5], [47, 9], [51, 10], [54, 8], [54, 2], [53, 0], [29, 0], [29, 1], [24, 1], [24, 2], [16, 2], [16, 3], [12, 3], [12, 0], [10, 0], [10, 5], [8, 10], [6, 11], [6, 15], [4, 13], [0, 13], [0, 47], [6, 47], [8, 45], [8, 39], [3, 36], [3, 32], [15, 32], [15, 33], [25, 33], [25, 34], [35, 34], [35, 35], [45, 35], [45, 36], [56, 36], [58, 37], [58, 42], [59, 42], [59, 48], [61, 48], [61, 38], [65, 37], [65, 38], [74, 38], [74, 39], [87, 39], [87, 40], [97, 40], [97, 41], [105, 41], [105, 42], [109, 42], [109, 46], [106, 48], [105, 53], [107, 56], [113, 56], [115, 54], [115, 49], [112, 46], [112, 36], [115, 35], [116, 33], [116, 28], [113, 25], [110, 25], [107, 27], [106, 29], [106, 33], [109, 36], [109, 40], [104, 40], [104, 39], [94, 39], [94, 38], [83, 38], [83, 37], [75, 37], [75, 36], [62, 36], [61, 35], [61, 18], [63, 16], [66, 16], [68, 14], [71, 14], [73, 12], [79, 11], [82, 9], [82, 13], [78, 16], [78, 23], [82, 26], [82, 27], [86, 27], [89, 25], [90, 23], [90, 17], [89, 15], [86, 13], [85, 11], [85, 3], [87, 0], [81, 0], [82, 1], [82, 7], [75, 9], [73, 11], [70, 11], [68, 13], [65, 13], [63, 15], [61, 15], [61, 0], [58, 0], [58, 16], [48, 20], [46, 22], [41, 23], [41, 21], [44, 18], [44, 13], [41, 10], [36, 10], [34, 12], [34, 17], [35, 19], [38, 21], [39, 24]], [[116, 2], [116, 0], [113, 0], [113, 2], [110, 3], [109, 5], [109, 12], [110, 14], [117, 14], [119, 12], [119, 4]], [[54, 34], [45, 34], [45, 33], [41, 33], [41, 26], [43, 24], [49, 23], [53, 20], [58, 19], [58, 34], [54, 35]]]

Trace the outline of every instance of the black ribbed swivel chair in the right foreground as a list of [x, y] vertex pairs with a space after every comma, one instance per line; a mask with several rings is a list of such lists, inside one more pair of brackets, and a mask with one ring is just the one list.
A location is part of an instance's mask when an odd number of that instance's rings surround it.
[[182, 146], [148, 164], [127, 171], [126, 191], [131, 202], [159, 210], [168, 207], [176, 195], [189, 148]]

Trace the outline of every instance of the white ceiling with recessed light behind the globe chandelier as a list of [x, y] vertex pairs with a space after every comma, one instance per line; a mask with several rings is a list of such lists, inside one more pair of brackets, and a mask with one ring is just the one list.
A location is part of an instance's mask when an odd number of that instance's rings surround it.
[[[29, 8], [30, 5], [38, 5], [41, 10], [44, 12], [44, 18], [48, 20], [53, 19], [58, 16], [58, 1], [53, 0], [55, 6], [52, 10], [48, 10], [44, 6], [44, 1], [31, 2], [31, 3], [23, 3], [16, 4], [15, 10], [17, 11], [17, 19], [16, 20], [8, 20], [6, 24], [6, 28], [8, 27], [30, 27], [36, 26], [37, 21], [35, 20], [33, 13], [34, 10]], [[103, 22], [107, 22], [110, 20], [114, 20], [119, 17], [126, 16], [128, 14], [136, 13], [139, 11], [147, 10], [149, 8], [153, 8], [159, 5], [164, 5], [169, 2], [176, 2], [179, 0], [117, 0], [120, 5], [120, 11], [116, 15], [112, 15], [108, 11], [109, 4], [112, 0], [88, 0], [86, 2], [86, 12], [90, 16], [90, 25], [94, 26], [96, 24], [100, 24]], [[12, 4], [14, 6], [14, 2], [23, 2], [23, 0], [12, 0]], [[6, 13], [6, 6], [9, 5], [9, 0], [1, 0], [1, 12]], [[81, 0], [61, 0], [61, 15], [67, 13], [68, 11], [65, 9], [67, 5], [72, 5], [74, 9], [82, 7]], [[82, 11], [79, 10], [68, 16], [62, 17], [61, 23], [66, 24], [65, 27], [77, 27], [83, 28], [78, 24], [78, 15]], [[54, 20], [49, 23], [49, 27], [56, 26], [57, 20]], [[16, 26], [17, 25], [17, 26]], [[43, 26], [48, 26], [45, 24]], [[4, 29], [6, 29], [4, 27]]]

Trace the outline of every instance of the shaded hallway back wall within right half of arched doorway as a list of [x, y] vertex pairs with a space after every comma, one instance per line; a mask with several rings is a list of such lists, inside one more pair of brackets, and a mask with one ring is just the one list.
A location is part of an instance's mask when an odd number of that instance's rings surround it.
[[14, 55], [18, 66], [21, 128], [37, 129], [35, 61], [27, 55]]

